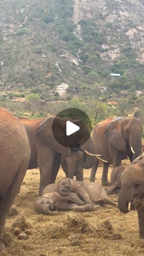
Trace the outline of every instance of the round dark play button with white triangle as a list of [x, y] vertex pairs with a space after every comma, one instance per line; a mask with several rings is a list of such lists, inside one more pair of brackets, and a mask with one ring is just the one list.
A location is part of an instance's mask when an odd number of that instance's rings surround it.
[[56, 141], [62, 146], [80, 150], [90, 138], [92, 123], [84, 111], [66, 108], [55, 116], [52, 132]]

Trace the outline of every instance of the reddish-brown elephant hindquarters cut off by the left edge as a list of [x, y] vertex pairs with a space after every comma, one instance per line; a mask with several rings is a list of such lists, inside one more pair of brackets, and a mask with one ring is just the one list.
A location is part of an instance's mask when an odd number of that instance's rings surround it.
[[21, 122], [0, 107], [0, 251], [6, 215], [20, 190], [30, 159], [30, 143]]

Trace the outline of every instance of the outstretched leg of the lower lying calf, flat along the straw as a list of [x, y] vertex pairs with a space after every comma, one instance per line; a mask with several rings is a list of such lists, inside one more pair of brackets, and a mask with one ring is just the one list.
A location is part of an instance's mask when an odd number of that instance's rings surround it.
[[74, 203], [62, 202], [57, 204], [58, 211], [75, 211], [75, 212], [92, 212], [92, 206], [90, 204], [85, 204], [83, 206], [78, 206]]

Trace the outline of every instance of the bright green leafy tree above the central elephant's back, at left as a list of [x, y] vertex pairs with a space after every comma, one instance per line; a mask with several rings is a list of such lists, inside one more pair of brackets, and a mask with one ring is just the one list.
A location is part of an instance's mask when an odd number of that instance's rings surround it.
[[32, 93], [26, 96], [26, 100], [30, 102], [31, 111], [34, 115], [40, 108], [40, 96], [38, 94]]

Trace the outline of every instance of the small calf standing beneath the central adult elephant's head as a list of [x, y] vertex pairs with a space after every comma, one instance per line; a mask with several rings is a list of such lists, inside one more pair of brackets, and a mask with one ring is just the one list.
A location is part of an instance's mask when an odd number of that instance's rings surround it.
[[76, 180], [83, 181], [83, 169], [80, 166], [82, 154], [80, 151], [71, 150], [71, 154], [69, 156], [62, 155], [61, 156], [61, 166], [66, 174], [66, 178], [73, 179], [76, 176]]

